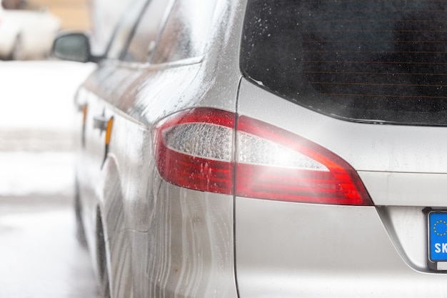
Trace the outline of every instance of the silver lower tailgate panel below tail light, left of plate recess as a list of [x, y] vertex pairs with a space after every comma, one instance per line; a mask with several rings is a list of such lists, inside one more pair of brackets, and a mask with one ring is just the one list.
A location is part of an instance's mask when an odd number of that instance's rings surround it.
[[442, 297], [408, 267], [374, 207], [236, 198], [239, 297]]

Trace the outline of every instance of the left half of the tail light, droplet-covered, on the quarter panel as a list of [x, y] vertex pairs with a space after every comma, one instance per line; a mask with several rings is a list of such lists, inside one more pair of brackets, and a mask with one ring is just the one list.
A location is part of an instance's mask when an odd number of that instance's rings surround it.
[[166, 119], [156, 132], [161, 177], [180, 187], [233, 194], [234, 125], [234, 114], [216, 109]]

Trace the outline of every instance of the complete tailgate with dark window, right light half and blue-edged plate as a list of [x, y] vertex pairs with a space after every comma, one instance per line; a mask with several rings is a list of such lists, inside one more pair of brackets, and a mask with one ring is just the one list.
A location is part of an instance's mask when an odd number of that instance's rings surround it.
[[444, 297], [446, 2], [248, 0], [238, 293]]

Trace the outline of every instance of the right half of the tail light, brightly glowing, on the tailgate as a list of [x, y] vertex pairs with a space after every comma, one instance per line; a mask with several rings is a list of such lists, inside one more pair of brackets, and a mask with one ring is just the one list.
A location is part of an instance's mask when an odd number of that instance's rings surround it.
[[289, 131], [241, 116], [236, 195], [318, 204], [371, 205], [360, 178], [343, 159]]

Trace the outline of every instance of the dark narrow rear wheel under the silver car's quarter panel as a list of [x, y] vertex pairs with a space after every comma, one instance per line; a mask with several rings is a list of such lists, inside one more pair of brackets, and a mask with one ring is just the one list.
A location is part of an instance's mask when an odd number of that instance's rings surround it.
[[100, 294], [102, 298], [111, 298], [110, 296], [110, 283], [109, 283], [109, 269], [107, 267], [106, 257], [106, 243], [104, 237], [104, 229], [101, 221], [101, 214], [98, 211], [96, 216], [97, 227], [97, 255], [98, 255], [98, 271], [100, 284]]

